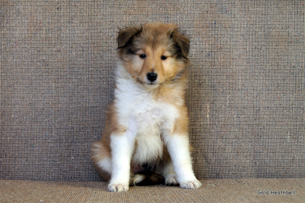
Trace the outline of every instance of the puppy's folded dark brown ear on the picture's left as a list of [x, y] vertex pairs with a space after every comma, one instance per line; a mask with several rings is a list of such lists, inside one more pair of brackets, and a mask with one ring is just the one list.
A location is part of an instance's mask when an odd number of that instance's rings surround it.
[[135, 36], [138, 36], [142, 30], [142, 25], [140, 27], [125, 27], [124, 29], [121, 29], [117, 36], [117, 48], [122, 48], [131, 43], [132, 39]]

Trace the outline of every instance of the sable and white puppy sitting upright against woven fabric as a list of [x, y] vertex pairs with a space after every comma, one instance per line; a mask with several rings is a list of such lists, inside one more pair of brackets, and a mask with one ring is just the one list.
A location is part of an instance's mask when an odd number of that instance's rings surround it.
[[114, 100], [92, 160], [109, 191], [157, 183], [201, 186], [192, 170], [185, 105], [189, 40], [174, 24], [126, 27], [117, 37]]

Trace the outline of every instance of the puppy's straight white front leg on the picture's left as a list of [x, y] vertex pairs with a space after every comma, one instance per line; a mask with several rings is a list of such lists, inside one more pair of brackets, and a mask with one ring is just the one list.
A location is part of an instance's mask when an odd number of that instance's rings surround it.
[[112, 173], [108, 190], [113, 192], [128, 191], [130, 178], [130, 161], [134, 150], [134, 136], [130, 131], [124, 134], [111, 134]]

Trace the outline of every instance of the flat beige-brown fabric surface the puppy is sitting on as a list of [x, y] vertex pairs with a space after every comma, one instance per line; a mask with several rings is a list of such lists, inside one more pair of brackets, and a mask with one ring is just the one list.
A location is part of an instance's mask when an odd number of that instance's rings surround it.
[[[105, 182], [1, 180], [1, 202], [304, 202], [305, 179], [204, 180], [195, 190], [163, 185], [106, 191]], [[295, 190], [295, 195], [258, 195]], [[271, 192], [271, 191], [270, 191]]]

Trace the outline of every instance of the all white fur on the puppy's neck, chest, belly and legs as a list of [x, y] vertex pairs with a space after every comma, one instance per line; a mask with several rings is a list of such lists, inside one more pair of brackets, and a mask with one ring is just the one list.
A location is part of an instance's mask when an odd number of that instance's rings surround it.
[[[200, 187], [201, 183], [195, 178], [192, 170], [187, 136], [169, 133], [179, 116], [178, 109], [174, 105], [154, 99], [151, 91], [135, 82], [121, 65], [117, 70], [116, 87], [117, 119], [127, 131], [122, 135], [110, 136], [112, 173], [108, 189], [128, 190], [131, 160], [153, 163], [162, 155], [164, 144], [173, 161], [164, 166], [163, 176], [166, 183], [176, 184], [177, 180], [183, 188]], [[161, 134], [165, 143], [160, 137]]]

